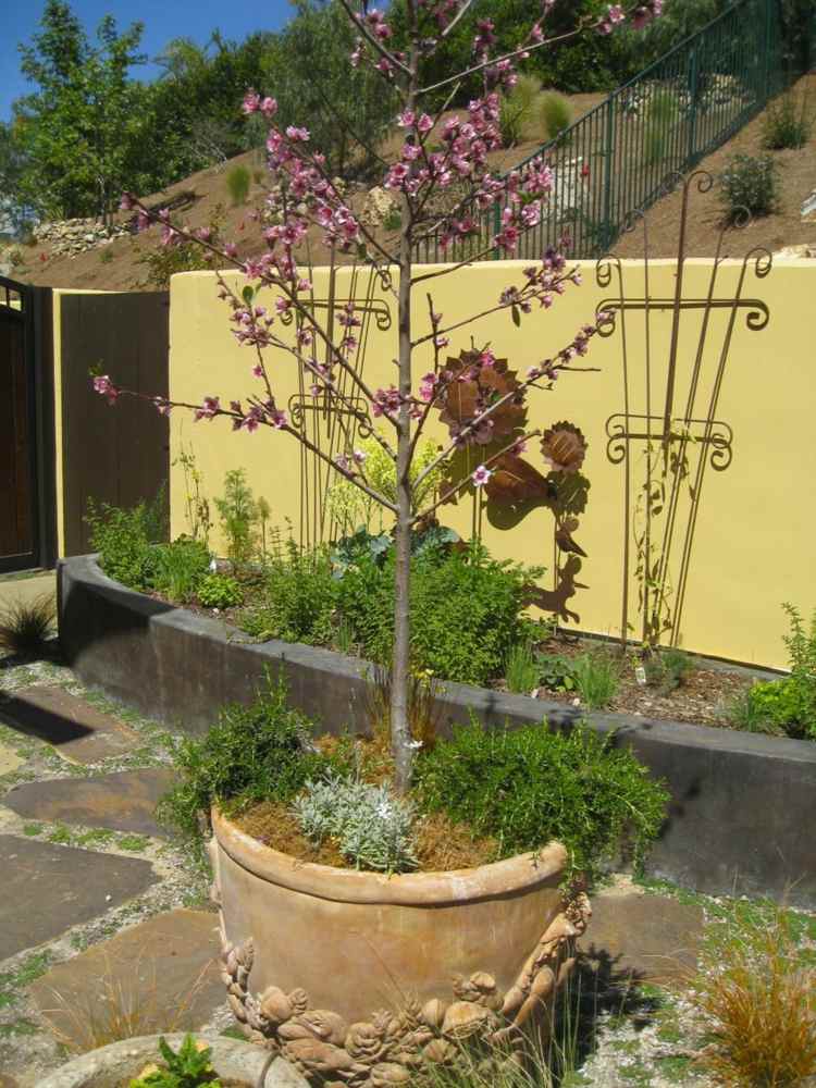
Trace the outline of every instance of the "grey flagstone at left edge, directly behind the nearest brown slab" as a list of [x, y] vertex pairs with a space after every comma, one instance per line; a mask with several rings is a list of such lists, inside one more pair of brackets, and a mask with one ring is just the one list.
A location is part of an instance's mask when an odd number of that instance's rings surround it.
[[0, 834], [0, 960], [141, 894], [149, 862]]

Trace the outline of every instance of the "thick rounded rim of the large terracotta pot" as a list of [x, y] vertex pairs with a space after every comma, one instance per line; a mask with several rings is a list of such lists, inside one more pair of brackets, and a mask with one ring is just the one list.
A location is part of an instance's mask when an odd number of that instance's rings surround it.
[[554, 841], [534, 853], [477, 868], [388, 876], [300, 862], [242, 831], [215, 807], [211, 819], [213, 842], [236, 865], [270, 883], [339, 903], [436, 907], [509, 898], [554, 880], [559, 883], [567, 864], [566, 848]]

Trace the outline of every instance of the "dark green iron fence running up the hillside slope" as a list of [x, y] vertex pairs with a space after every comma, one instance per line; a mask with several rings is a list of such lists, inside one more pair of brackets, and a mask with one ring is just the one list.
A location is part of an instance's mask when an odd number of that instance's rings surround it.
[[[549, 163], [553, 190], [516, 256], [537, 257], [565, 235], [570, 256], [605, 252], [672, 176], [725, 144], [803, 74], [816, 18], [802, 33], [809, 40], [794, 54], [779, 0], [739, 0], [545, 144], [530, 159], [543, 156]], [[478, 233], [446, 249], [438, 233], [430, 233], [418, 243], [416, 259], [458, 262], [484, 252], [499, 217], [498, 207], [473, 217]], [[494, 249], [493, 256], [500, 255]]]

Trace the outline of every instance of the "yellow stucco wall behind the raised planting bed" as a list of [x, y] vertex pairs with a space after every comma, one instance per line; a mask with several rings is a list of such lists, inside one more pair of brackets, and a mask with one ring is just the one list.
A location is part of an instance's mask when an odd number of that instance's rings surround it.
[[[689, 261], [683, 297], [705, 297], [710, 261]], [[499, 292], [518, 280], [523, 264], [485, 263], [444, 276], [433, 284], [435, 309], [446, 322], [466, 318], [491, 306]], [[715, 295], [733, 294], [741, 262], [728, 261], [718, 272]], [[595, 283], [594, 264], [583, 269], [585, 283], [570, 288], [548, 311], [536, 311], [516, 327], [504, 312], [480, 321], [452, 336], [452, 349], [469, 346], [472, 335], [482, 345], [490, 342], [499, 357], [507, 357], [523, 372], [529, 366], [557, 351], [577, 329], [592, 319], [603, 298], [615, 294]], [[346, 273], [341, 273], [341, 276]], [[653, 262], [650, 297], [670, 298], [675, 290], [672, 261]], [[642, 296], [641, 262], [623, 263], [625, 294]], [[325, 275], [316, 275], [316, 294], [324, 293]], [[341, 287], [341, 294], [343, 288]], [[743, 296], [767, 305], [770, 319], [762, 331], [746, 329], [742, 311], [735, 322], [716, 417], [733, 429], [733, 460], [724, 472], [707, 470], [694, 537], [693, 559], [682, 621], [682, 644], [689, 650], [733, 660], [783, 667], [781, 635], [787, 623], [781, 602], [791, 601], [805, 611], [816, 606], [814, 579], [814, 531], [816, 485], [811, 452], [816, 419], [816, 349], [808, 334], [816, 302], [816, 261], [778, 261], [769, 276], [749, 274]], [[393, 304], [392, 304], [393, 309]], [[426, 322], [423, 290], [417, 293], [416, 321]], [[246, 396], [256, 387], [250, 375], [251, 350], [239, 348], [230, 332], [228, 311], [215, 294], [211, 273], [186, 273], [173, 277], [171, 287], [171, 375], [173, 399], [199, 403], [205, 394], [224, 400]], [[684, 393], [696, 350], [700, 314], [684, 311], [680, 326], [677, 388]], [[706, 354], [709, 375], [716, 367], [728, 321], [727, 311], [712, 317]], [[666, 360], [671, 319], [668, 311], [654, 314], [651, 323], [653, 394], [658, 405], [665, 393]], [[631, 372], [643, 373], [643, 320], [627, 319]], [[364, 375], [372, 386], [388, 384], [395, 375], [393, 358], [396, 327], [380, 331], [372, 325], [364, 361]], [[715, 350], [716, 349], [716, 350]], [[428, 369], [430, 357], [417, 359], [417, 375]], [[617, 634], [620, 628], [621, 561], [623, 541], [623, 480], [620, 465], [607, 458], [605, 423], [623, 409], [622, 351], [620, 332], [608, 339], [595, 338], [582, 364], [594, 373], [564, 375], [552, 393], [535, 391], [530, 398], [533, 425], [547, 426], [569, 419], [589, 440], [584, 465], [591, 481], [589, 506], [581, 520], [579, 539], [589, 558], [579, 581], [586, 585], [571, 602], [580, 615], [580, 628]], [[272, 368], [279, 403], [297, 390], [294, 363], [276, 361]], [[639, 380], [640, 381], [640, 380]], [[701, 393], [710, 387], [704, 376]], [[640, 381], [642, 390], [643, 381]], [[682, 397], [679, 397], [684, 403]], [[631, 404], [642, 410], [642, 392]], [[432, 431], [442, 436], [442, 431]], [[176, 411], [171, 426], [171, 457], [182, 445], [191, 447], [212, 497], [221, 493], [225, 470], [243, 466], [256, 495], [272, 507], [280, 526], [288, 518], [298, 526], [300, 503], [299, 448], [287, 435], [267, 430], [254, 435], [233, 434], [226, 421], [194, 423]], [[692, 453], [696, 456], [694, 447]], [[698, 447], [697, 447], [698, 448]], [[537, 452], [529, 458], [542, 467]], [[642, 456], [632, 461], [642, 469]], [[184, 481], [178, 466], [171, 471], [171, 511], [174, 533], [186, 530]], [[680, 516], [683, 516], [681, 505]], [[444, 521], [468, 534], [471, 506], [446, 507]], [[552, 567], [552, 515], [540, 509], [511, 530], [484, 524], [484, 539], [500, 557]], [[631, 593], [636, 601], [632, 582]], [[632, 607], [634, 613], [634, 606]], [[638, 617], [634, 615], [634, 622]]]

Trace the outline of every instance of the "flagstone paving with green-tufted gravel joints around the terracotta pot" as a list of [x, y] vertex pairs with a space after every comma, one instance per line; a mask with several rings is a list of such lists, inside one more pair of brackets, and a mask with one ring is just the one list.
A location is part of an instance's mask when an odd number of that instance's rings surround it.
[[[116, 1006], [138, 1034], [234, 1029], [209, 878], [153, 815], [172, 780], [163, 728], [52, 662], [0, 660], [3, 721], [0, 1088], [36, 1088], [65, 1061], [58, 1038], [81, 1043]], [[593, 895], [577, 968], [591, 1024], [570, 1084], [712, 1088], [683, 987], [715, 903], [627, 878]]]

